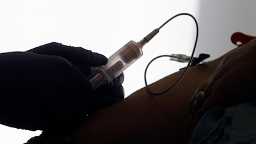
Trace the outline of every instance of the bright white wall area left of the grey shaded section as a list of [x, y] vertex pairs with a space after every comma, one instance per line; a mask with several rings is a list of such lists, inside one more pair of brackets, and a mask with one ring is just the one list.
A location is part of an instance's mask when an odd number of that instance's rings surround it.
[[[109, 57], [129, 40], [141, 40], [177, 13], [188, 12], [196, 16], [196, 6], [197, 1], [170, 0], [0, 0], [0, 52], [26, 51], [49, 42], [61, 42]], [[190, 31], [195, 31], [193, 20], [180, 17], [145, 46], [143, 57], [125, 71], [126, 96], [144, 86], [143, 72], [152, 58], [191, 49]], [[171, 68], [165, 75], [184, 65], [165, 61], [170, 65], [168, 69]], [[154, 74], [148, 72], [148, 78], [152, 76]], [[24, 143], [38, 134], [40, 131], [0, 125], [0, 143]]]

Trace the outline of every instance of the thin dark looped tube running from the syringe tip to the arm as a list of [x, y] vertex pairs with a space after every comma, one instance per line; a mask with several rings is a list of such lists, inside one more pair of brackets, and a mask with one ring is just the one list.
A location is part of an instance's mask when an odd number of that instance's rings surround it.
[[194, 56], [194, 53], [195, 53], [196, 44], [197, 44], [197, 40], [198, 40], [198, 23], [197, 23], [197, 21], [196, 21], [196, 19], [195, 19], [195, 17], [194, 17], [193, 15], [191, 15], [191, 14], [189, 14], [189, 13], [179, 13], [179, 14], [177, 14], [177, 15], [171, 17], [170, 19], [168, 19], [166, 22], [164, 22], [164, 24], [162, 24], [158, 29], [163, 28], [163, 26], [165, 26], [165, 24], [167, 24], [168, 22], [170, 22], [170, 20], [174, 19], [175, 17], [179, 17], [180, 15], [188, 15], [189, 17], [191, 17], [191, 18], [195, 21], [195, 24], [196, 24], [196, 39], [195, 39], [195, 44], [194, 44], [194, 47], [193, 47], [193, 51], [192, 51], [192, 53], [191, 53], [191, 58], [190, 58], [190, 60], [189, 60], [189, 62], [188, 62], [187, 67], [185, 68], [184, 72], [183, 72], [182, 75], [179, 77], [179, 79], [178, 79], [172, 86], [170, 86], [170, 88], [168, 88], [168, 89], [166, 89], [166, 90], [164, 90], [163, 92], [160, 92], [160, 93], [153, 93], [153, 92], [151, 92], [151, 91], [149, 90], [148, 84], [147, 84], [147, 76], [146, 76], [146, 75], [147, 75], [147, 69], [148, 69], [150, 63], [152, 63], [152, 62], [153, 62], [154, 60], [156, 60], [157, 58], [166, 57], [166, 56], [172, 57], [172, 56], [171, 56], [171, 55], [161, 55], [161, 56], [157, 56], [156, 58], [152, 59], [152, 60], [148, 63], [147, 67], [145, 68], [145, 73], [144, 73], [145, 86], [146, 86], [146, 88], [147, 88], [148, 93], [150, 93], [151, 95], [162, 95], [163, 93], [166, 93], [166, 92], [172, 90], [172, 89], [174, 88], [174, 86], [176, 86], [176, 85], [180, 82], [180, 80], [184, 77], [184, 75], [186, 74], [186, 72], [187, 72], [187, 70], [188, 70], [188, 68], [189, 68], [189, 65], [191, 64], [191, 61], [193, 60], [193, 56]]

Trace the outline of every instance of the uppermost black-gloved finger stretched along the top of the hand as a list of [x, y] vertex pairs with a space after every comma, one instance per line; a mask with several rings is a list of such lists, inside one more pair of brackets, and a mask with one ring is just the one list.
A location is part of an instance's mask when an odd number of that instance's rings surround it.
[[74, 65], [97, 67], [106, 65], [108, 58], [97, 52], [92, 52], [83, 47], [72, 47], [52, 42], [28, 50], [36, 54], [61, 56]]

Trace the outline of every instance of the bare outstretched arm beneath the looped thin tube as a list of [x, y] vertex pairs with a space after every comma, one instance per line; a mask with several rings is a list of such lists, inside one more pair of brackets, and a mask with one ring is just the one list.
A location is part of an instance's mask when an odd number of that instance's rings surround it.
[[[212, 74], [220, 70], [233, 52], [242, 51], [237, 48], [216, 60], [189, 67], [177, 86], [163, 95], [150, 95], [146, 88], [141, 88], [113, 106], [97, 111], [74, 133], [74, 143], [188, 143], [191, 131], [189, 104], [195, 92], [212, 79]], [[166, 90], [182, 72], [150, 84], [150, 90]]]

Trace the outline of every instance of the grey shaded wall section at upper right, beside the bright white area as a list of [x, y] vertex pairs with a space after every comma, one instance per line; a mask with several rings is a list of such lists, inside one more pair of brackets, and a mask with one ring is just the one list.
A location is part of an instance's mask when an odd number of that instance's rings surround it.
[[254, 0], [200, 1], [197, 52], [209, 52], [212, 60], [236, 47], [230, 41], [236, 31], [255, 36], [255, 4]]

